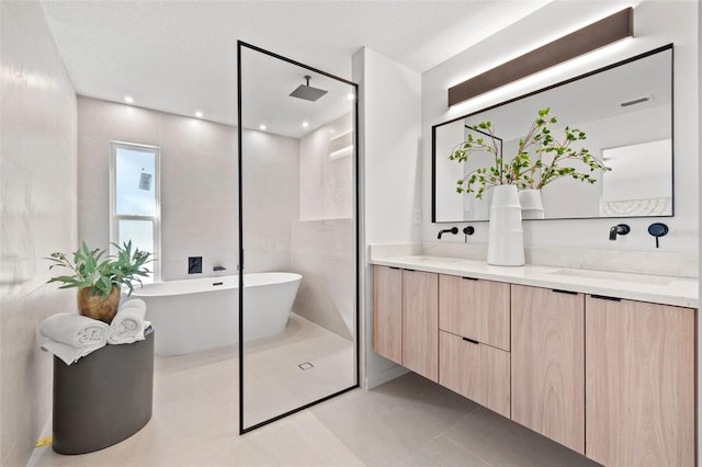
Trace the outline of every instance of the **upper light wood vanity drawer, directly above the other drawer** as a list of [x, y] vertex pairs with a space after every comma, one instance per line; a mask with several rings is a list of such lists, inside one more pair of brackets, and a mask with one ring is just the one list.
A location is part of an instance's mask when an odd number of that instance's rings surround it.
[[443, 274], [439, 282], [440, 329], [509, 351], [509, 284]]

